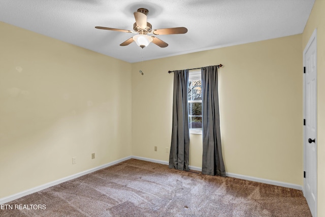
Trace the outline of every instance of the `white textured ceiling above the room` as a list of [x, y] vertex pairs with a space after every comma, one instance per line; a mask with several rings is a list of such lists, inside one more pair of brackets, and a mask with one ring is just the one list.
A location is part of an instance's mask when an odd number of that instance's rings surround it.
[[[0, 21], [135, 63], [166, 56], [301, 34], [314, 0], [0, 0]], [[153, 29], [186, 27], [180, 35], [157, 38], [143, 50], [120, 43], [132, 33], [133, 12], [149, 10]], [[0, 33], [1, 34], [1, 33]], [[143, 53], [142, 53], [143, 51]]]

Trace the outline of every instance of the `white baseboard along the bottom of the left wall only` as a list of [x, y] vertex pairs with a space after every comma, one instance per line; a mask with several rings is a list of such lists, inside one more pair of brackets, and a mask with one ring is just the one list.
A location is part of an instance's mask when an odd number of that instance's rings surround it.
[[74, 175], [71, 175], [71, 176], [67, 176], [67, 177], [60, 178], [60, 179], [55, 180], [55, 181], [48, 182], [46, 184], [42, 184], [42, 185], [40, 185], [38, 187], [35, 187], [35, 188], [32, 188], [32, 189], [28, 189], [26, 191], [19, 192], [17, 194], [10, 195], [8, 197], [0, 198], [0, 204], [8, 203], [10, 201], [16, 200], [16, 199], [21, 198], [23, 196], [26, 196], [26, 195], [29, 195], [29, 194], [32, 194], [32, 193], [41, 191], [43, 189], [50, 188], [50, 187], [52, 187], [52, 186], [54, 186], [56, 184], [60, 184], [60, 183], [62, 183], [64, 181], [69, 181], [71, 179], [78, 178], [78, 177], [83, 176], [83, 175], [86, 175], [88, 173], [92, 173], [92, 172], [95, 172], [97, 170], [104, 169], [104, 168], [109, 167], [109, 166], [113, 166], [115, 164], [121, 163], [121, 162], [126, 161], [126, 160], [129, 160], [131, 158], [132, 158], [131, 156], [126, 157], [126, 158], [122, 158], [122, 159], [119, 159], [119, 160], [110, 162], [108, 164], [104, 164], [104, 165], [99, 166], [99, 167], [95, 167], [95, 168], [92, 168], [92, 169], [89, 169], [89, 170], [86, 170], [86, 171], [83, 171], [83, 172], [80, 172], [80, 173], [77, 173], [77, 174], [74, 174]]

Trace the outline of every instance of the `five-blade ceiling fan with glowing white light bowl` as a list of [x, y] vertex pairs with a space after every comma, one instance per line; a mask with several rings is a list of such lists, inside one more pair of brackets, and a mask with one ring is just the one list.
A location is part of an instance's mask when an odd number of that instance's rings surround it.
[[126, 46], [131, 44], [132, 42], [136, 42], [138, 46], [144, 48], [150, 44], [150, 42], [158, 45], [159, 47], [167, 47], [168, 44], [154, 36], [148, 36], [147, 34], [154, 34], [154, 35], [171, 35], [171, 34], [184, 34], [187, 33], [187, 28], [185, 27], [175, 27], [175, 28], [160, 28], [152, 30], [152, 26], [150, 23], [147, 22], [147, 14], [148, 10], [145, 8], [139, 8], [137, 12], [134, 12], [134, 17], [136, 22], [133, 24], [133, 29], [135, 32], [131, 30], [119, 29], [119, 28], [110, 28], [110, 27], [102, 27], [102, 26], [95, 26], [95, 28], [99, 29], [106, 29], [106, 30], [113, 30], [118, 32], [124, 33], [138, 33], [125, 42], [120, 44], [120, 46]]

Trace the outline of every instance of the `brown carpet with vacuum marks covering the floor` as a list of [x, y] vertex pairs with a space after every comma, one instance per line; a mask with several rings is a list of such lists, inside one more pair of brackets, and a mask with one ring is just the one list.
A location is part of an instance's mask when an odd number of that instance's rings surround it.
[[0, 209], [0, 216], [311, 216], [298, 190], [135, 159], [6, 205], [17, 204], [46, 209]]

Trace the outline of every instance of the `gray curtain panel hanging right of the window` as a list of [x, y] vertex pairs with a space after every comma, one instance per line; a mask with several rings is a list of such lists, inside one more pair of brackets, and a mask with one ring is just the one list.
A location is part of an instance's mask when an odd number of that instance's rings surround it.
[[225, 175], [220, 138], [217, 66], [202, 67], [202, 173]]

